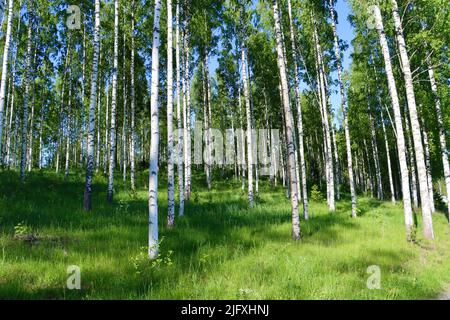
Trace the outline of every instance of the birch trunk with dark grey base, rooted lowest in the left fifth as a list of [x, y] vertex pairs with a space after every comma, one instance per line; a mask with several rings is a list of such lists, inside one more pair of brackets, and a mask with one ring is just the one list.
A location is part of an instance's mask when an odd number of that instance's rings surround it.
[[86, 186], [84, 190], [84, 210], [92, 210], [92, 174], [94, 169], [95, 104], [97, 103], [98, 59], [100, 54], [100, 0], [95, 0], [94, 56], [91, 74], [91, 97], [89, 103], [89, 131], [87, 141]]

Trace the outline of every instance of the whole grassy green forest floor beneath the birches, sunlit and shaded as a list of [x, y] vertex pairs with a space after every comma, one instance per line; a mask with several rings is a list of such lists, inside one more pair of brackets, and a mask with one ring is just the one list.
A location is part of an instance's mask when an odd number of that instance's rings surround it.
[[[135, 194], [121, 180], [117, 173], [108, 205], [106, 179], [98, 175], [94, 209], [86, 213], [84, 172], [65, 181], [36, 171], [23, 185], [17, 173], [0, 173], [0, 298], [436, 299], [450, 283], [450, 228], [442, 212], [433, 217], [434, 242], [423, 239], [417, 214], [416, 242], [407, 243], [400, 204], [360, 198], [352, 219], [349, 199], [335, 213], [312, 201], [295, 243], [282, 188], [262, 184], [250, 209], [234, 180], [211, 192], [195, 180], [187, 214], [173, 229], [165, 227], [161, 188], [161, 254], [149, 262], [148, 176], [139, 175]], [[71, 265], [81, 269], [81, 290], [66, 288]]]

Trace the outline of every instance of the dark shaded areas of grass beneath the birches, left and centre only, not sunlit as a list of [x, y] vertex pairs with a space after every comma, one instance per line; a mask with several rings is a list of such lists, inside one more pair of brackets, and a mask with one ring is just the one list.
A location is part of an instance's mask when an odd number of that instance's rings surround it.
[[[233, 184], [230, 184], [226, 188], [214, 188], [211, 192], [198, 189], [198, 201], [191, 200], [186, 204], [186, 216], [177, 218], [176, 226], [172, 229], [166, 227], [166, 200], [160, 201], [160, 237], [165, 238], [161, 244], [161, 254], [165, 256], [169, 250], [173, 251], [176, 267], [171, 270], [163, 268], [170, 274], [156, 271], [144, 278], [133, 276], [136, 270], [133, 269], [131, 258], [137, 256], [148, 241], [147, 201], [130, 198], [115, 201], [112, 206], [107, 204], [104, 179], [96, 179], [94, 185], [94, 210], [84, 213], [81, 207], [84, 190], [82, 182], [76, 179], [63, 181], [59, 176], [47, 174], [31, 175], [27, 184], [11, 186], [9, 193], [4, 196], [8, 201], [20, 201], [20, 206], [11, 205], [14, 210], [4, 216], [3, 222], [6, 222], [10, 231], [17, 221], [24, 220], [39, 229], [56, 226], [66, 231], [69, 237], [73, 232], [81, 232], [82, 241], [69, 243], [69, 254], [76, 253], [82, 260], [101, 254], [107, 256], [105, 261], [109, 259], [117, 268], [112, 271], [101, 267], [94, 270], [90, 266], [91, 269], [84, 271], [85, 280], [95, 283], [95, 291], [114, 290], [120, 284], [122, 287], [117, 290], [124, 294], [145, 294], [149, 288], [156, 292], [163, 286], [177, 286], [186, 273], [206, 273], [203, 271], [205, 262], [202, 262], [205, 252], [217, 252], [207, 261], [208, 267], [214, 269], [225, 261], [239, 258], [268, 243], [286, 244], [291, 241], [291, 212], [289, 200], [284, 195], [266, 197], [264, 203], [249, 208], [245, 194], [237, 191], [240, 192], [239, 183], [235, 183], [230, 191], [232, 187]], [[280, 206], [280, 201], [286, 203]], [[343, 210], [345, 212], [347, 209]], [[342, 212], [317, 215], [309, 221], [302, 220], [301, 225], [303, 241], [314, 238], [315, 242], [323, 245], [339, 240], [336, 227], [358, 227], [355, 221]], [[48, 246], [43, 249], [59, 248]], [[21, 252], [18, 251], [18, 254]], [[28, 253], [25, 258], [44, 262], [52, 262], [53, 259], [51, 254], [39, 256], [37, 253]], [[52, 287], [28, 292], [25, 287], [18, 286], [15, 295], [19, 297], [53, 298], [53, 295], [61, 297], [64, 293], [63, 289]], [[88, 286], [80, 296], [88, 297], [92, 293], [94, 289]], [[80, 296], [75, 294], [75, 297]]]

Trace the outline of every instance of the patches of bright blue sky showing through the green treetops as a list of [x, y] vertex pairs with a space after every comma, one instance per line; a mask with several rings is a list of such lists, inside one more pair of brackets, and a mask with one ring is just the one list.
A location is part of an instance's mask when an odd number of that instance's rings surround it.
[[[348, 16], [351, 13], [350, 5], [347, 2], [347, 0], [338, 0], [336, 4], [336, 11], [338, 16], [338, 24], [337, 24], [337, 33], [341, 40], [344, 40], [345, 43], [348, 45], [347, 50], [344, 52], [344, 60], [343, 60], [343, 67], [344, 70], [348, 70], [351, 64], [351, 53], [353, 52], [353, 47], [351, 45], [351, 41], [354, 37], [353, 28], [348, 21]], [[210, 74], [215, 74], [215, 70], [218, 67], [217, 63], [217, 57], [212, 56], [209, 61], [209, 69]], [[337, 79], [337, 72], [334, 72], [331, 74], [333, 77], [333, 80]], [[303, 84], [303, 87], [305, 84]], [[336, 86], [333, 86], [330, 88], [331, 90], [331, 104], [333, 110], [340, 110], [341, 105], [341, 97], [338, 92], [338, 88]], [[335, 112], [335, 116], [338, 112]], [[339, 126], [339, 120], [335, 119], [336, 125]]]

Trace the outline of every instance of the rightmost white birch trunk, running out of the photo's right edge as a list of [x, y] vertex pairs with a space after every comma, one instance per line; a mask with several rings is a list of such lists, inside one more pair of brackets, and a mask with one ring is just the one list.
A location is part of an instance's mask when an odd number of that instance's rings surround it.
[[[431, 90], [434, 94], [434, 104], [436, 108], [436, 116], [438, 120], [438, 129], [439, 129], [439, 143], [441, 147], [441, 156], [442, 156], [442, 165], [444, 167], [444, 180], [445, 186], [447, 190], [447, 204], [450, 201], [450, 166], [448, 162], [448, 149], [447, 142], [445, 138], [445, 128], [444, 128], [444, 120], [442, 117], [442, 108], [441, 108], [441, 100], [439, 99], [436, 79], [434, 77], [434, 70], [431, 66], [431, 58], [428, 56], [427, 59], [428, 66], [428, 77], [430, 78]], [[449, 215], [449, 223], [450, 223], [450, 215]]]

